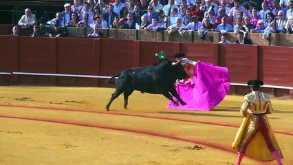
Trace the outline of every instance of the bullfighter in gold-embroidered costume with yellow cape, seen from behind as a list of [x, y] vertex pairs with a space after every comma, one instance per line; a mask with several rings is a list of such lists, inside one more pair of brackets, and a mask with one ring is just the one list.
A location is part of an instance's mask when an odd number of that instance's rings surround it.
[[266, 115], [273, 111], [270, 95], [259, 91], [263, 85], [261, 80], [249, 80], [248, 85], [252, 92], [244, 96], [240, 109], [245, 118], [232, 144], [238, 151], [236, 164], [241, 164], [243, 156], [249, 155], [264, 161], [276, 159], [280, 165], [283, 155]]

